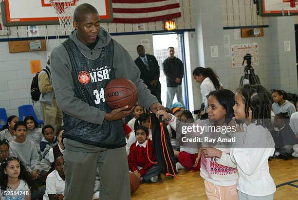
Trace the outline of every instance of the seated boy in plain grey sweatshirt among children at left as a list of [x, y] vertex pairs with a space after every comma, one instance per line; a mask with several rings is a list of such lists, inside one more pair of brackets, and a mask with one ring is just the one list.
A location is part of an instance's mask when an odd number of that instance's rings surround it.
[[15, 140], [10, 142], [10, 156], [18, 157], [23, 163], [26, 170], [31, 173], [33, 179], [40, 178], [42, 170], [35, 143], [31, 140], [26, 140], [27, 126], [23, 121], [18, 121], [14, 127]]

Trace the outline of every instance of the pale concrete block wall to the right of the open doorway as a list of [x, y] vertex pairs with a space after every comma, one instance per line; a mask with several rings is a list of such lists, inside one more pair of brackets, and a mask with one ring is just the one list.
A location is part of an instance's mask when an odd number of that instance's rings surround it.
[[[224, 88], [235, 91], [239, 86], [240, 77], [244, 74], [244, 68], [232, 68], [231, 57], [224, 57], [223, 36], [230, 36], [230, 45], [258, 43], [259, 66], [255, 66], [254, 69], [260, 77], [261, 84], [268, 90], [276, 88], [297, 93], [294, 17], [266, 19], [269, 22], [269, 28], [264, 28], [264, 37], [235, 40], [234, 30], [223, 30], [223, 26], [226, 25], [225, 21], [218, 16], [218, 13], [223, 8], [225, 9], [226, 2], [235, 1], [193, 1], [200, 66], [211, 67], [220, 77]], [[237, 10], [237, 7], [239, 6], [233, 7], [233, 12]], [[233, 24], [237, 25], [234, 22]], [[240, 25], [242, 25], [241, 22]], [[291, 42], [291, 52], [284, 51], [283, 42], [287, 40]], [[218, 46], [218, 58], [211, 58], [210, 46]]]

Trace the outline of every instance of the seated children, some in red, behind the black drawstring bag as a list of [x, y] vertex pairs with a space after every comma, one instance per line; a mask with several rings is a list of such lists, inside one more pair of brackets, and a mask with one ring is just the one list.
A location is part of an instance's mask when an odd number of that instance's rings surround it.
[[[180, 120], [185, 120], [186, 122], [194, 121], [191, 112], [184, 110], [183, 107], [174, 107], [171, 110], [166, 108], [166, 110]], [[153, 152], [150, 115], [149, 113], [144, 113], [144, 108], [140, 105], [135, 106], [133, 115], [134, 117], [128, 122], [132, 131], [126, 133], [129, 169], [137, 175], [140, 181], [156, 182], [162, 170], [158, 163], [156, 163]], [[124, 123], [124, 127], [126, 126]], [[177, 160], [176, 171], [178, 172], [178, 169], [199, 171], [201, 165], [201, 148], [197, 145], [192, 148], [184, 147], [176, 139], [175, 130], [170, 128], [169, 125], [167, 128]], [[129, 129], [125, 128], [125, 130]]]

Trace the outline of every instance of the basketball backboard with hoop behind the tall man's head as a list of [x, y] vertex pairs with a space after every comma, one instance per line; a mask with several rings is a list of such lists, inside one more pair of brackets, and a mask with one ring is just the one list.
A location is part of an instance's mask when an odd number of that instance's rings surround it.
[[[112, 22], [112, 0], [78, 0], [76, 5], [82, 3], [97, 9], [101, 22]], [[3, 0], [1, 13], [5, 26], [59, 24], [49, 0]]]

